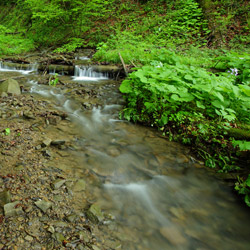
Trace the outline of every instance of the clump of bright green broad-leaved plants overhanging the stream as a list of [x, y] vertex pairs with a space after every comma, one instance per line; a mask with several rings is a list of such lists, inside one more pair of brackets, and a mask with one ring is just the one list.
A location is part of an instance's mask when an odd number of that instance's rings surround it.
[[155, 59], [122, 82], [128, 103], [122, 117], [192, 145], [207, 166], [235, 170], [227, 131], [236, 121], [250, 123], [249, 87], [229, 73], [215, 75], [185, 64], [168, 50]]

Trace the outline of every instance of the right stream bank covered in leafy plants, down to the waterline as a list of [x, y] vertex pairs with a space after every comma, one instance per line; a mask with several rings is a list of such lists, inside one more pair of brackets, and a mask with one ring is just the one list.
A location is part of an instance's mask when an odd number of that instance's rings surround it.
[[250, 57], [220, 58], [216, 68], [223, 72], [214, 74], [164, 52], [122, 82], [121, 117], [189, 145], [206, 166], [237, 181], [250, 206]]

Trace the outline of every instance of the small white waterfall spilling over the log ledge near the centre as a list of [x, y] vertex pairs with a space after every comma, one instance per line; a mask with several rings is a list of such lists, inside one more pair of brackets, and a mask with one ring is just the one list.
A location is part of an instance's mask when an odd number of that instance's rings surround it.
[[91, 66], [75, 66], [74, 80], [98, 81], [108, 79], [108, 73], [94, 71]]

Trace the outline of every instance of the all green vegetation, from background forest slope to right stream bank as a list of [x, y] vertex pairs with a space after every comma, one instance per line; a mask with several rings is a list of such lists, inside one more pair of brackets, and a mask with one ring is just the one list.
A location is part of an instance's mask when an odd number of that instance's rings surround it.
[[[0, 53], [97, 49], [93, 60], [133, 72], [121, 117], [192, 146], [239, 174], [250, 206], [250, 4], [246, 0], [5, 0]], [[120, 54], [120, 55], [119, 55]]]

